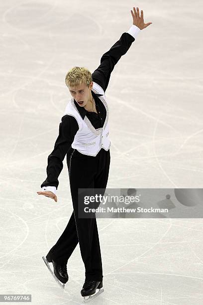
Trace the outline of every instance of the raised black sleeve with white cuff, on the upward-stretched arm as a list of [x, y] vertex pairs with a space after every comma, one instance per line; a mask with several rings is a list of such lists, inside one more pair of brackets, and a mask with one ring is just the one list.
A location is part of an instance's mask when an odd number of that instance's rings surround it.
[[98, 83], [105, 92], [110, 79], [110, 74], [113, 71], [115, 64], [124, 55], [137, 34], [141, 31], [136, 25], [132, 25], [127, 32], [122, 33], [120, 39], [102, 55], [100, 66], [93, 72], [93, 81]]

